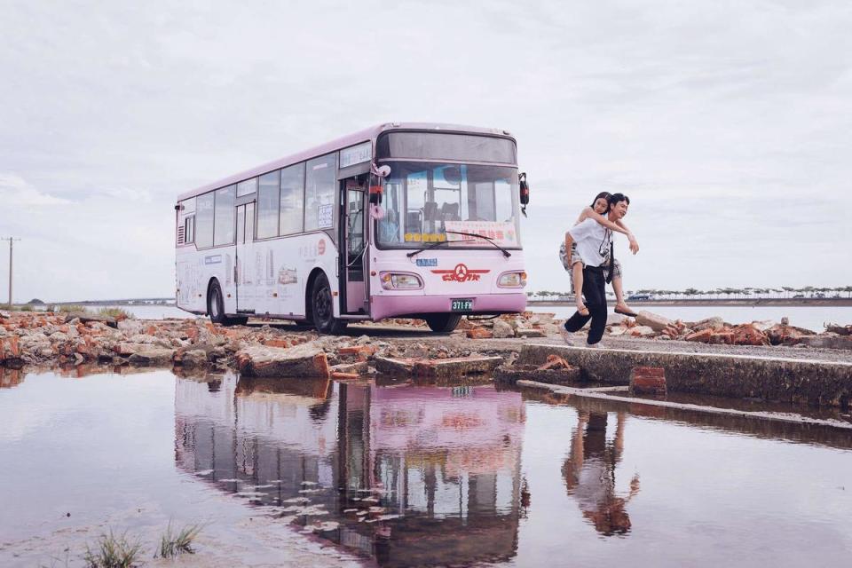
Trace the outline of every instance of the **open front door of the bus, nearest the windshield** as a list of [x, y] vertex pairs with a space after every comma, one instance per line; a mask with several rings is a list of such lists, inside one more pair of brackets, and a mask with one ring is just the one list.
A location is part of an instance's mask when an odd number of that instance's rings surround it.
[[343, 179], [341, 189], [340, 311], [367, 314], [367, 175]]

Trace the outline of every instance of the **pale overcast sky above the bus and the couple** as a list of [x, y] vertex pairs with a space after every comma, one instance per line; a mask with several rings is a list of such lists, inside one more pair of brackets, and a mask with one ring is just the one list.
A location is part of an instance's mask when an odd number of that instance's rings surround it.
[[133, 4], [0, 2], [16, 301], [173, 296], [178, 193], [390, 121], [516, 135], [533, 290], [604, 190], [628, 289], [852, 284], [848, 0]]

